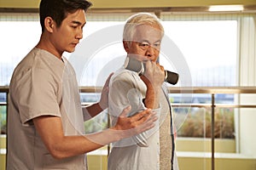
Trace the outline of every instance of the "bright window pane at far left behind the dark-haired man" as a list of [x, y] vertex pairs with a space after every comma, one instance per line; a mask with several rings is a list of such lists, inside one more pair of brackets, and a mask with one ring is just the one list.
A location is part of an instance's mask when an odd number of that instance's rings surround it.
[[38, 43], [40, 33], [38, 21], [0, 21], [0, 86], [9, 85], [15, 66]]

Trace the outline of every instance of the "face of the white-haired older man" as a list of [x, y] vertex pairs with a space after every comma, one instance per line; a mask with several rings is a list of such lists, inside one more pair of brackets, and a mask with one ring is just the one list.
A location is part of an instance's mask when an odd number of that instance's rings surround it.
[[162, 33], [158, 26], [137, 26], [131, 46], [125, 48], [128, 54], [136, 54], [138, 60], [156, 62], [160, 54]]

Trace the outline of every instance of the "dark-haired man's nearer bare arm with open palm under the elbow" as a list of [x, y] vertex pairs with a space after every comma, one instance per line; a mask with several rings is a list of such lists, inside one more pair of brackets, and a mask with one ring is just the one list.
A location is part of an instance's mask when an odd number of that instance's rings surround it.
[[87, 135], [65, 136], [61, 117], [58, 116], [39, 116], [33, 119], [33, 123], [49, 153], [56, 159], [61, 159], [96, 150], [105, 144], [154, 127], [154, 122], [157, 120], [154, 112], [147, 110], [136, 116], [127, 117], [126, 114], [130, 110], [131, 107], [125, 108], [114, 127]]

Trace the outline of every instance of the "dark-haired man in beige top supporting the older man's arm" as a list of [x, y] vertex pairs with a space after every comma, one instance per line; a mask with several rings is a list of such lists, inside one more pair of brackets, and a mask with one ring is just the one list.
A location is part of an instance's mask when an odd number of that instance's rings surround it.
[[42, 0], [42, 35], [15, 68], [9, 86], [7, 169], [86, 169], [84, 153], [154, 127], [150, 110], [100, 133], [84, 134], [86, 118], [108, 107], [108, 81], [100, 101], [81, 108], [72, 65], [62, 56], [83, 37], [85, 0]]

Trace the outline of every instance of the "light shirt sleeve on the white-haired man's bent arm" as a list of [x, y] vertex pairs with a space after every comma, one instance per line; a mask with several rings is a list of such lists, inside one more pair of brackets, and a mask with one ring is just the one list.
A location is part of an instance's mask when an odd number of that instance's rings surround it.
[[[117, 117], [123, 111], [125, 106], [131, 105], [129, 116], [139, 111], [145, 110], [143, 98], [145, 96], [146, 87], [140, 77], [133, 75], [132, 72], [122, 72], [110, 82], [109, 86], [109, 114], [112, 117], [112, 125], [117, 121]], [[129, 139], [122, 139], [115, 143], [115, 147], [137, 144], [141, 147], [148, 146], [148, 137], [154, 132], [147, 131], [137, 134]]]

